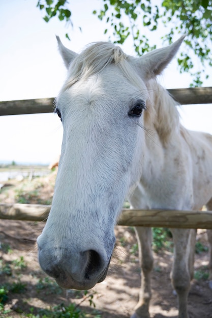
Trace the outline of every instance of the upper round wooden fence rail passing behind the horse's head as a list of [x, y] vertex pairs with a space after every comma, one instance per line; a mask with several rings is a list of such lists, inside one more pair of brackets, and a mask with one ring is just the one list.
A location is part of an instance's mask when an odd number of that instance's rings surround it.
[[[182, 105], [212, 103], [212, 87], [168, 89]], [[0, 116], [51, 113], [54, 98], [0, 102]]]

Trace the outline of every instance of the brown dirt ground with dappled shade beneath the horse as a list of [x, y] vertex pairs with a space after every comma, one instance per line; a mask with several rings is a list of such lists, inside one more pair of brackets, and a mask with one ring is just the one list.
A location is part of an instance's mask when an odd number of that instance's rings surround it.
[[[41, 195], [40, 189], [38, 191], [37, 188], [36, 195], [48, 201], [53, 195], [51, 185], [53, 181], [43, 178], [42, 182], [41, 180], [39, 182], [42, 183], [43, 192]], [[23, 184], [21, 186], [23, 188]], [[15, 196], [17, 202], [17, 193], [20, 196], [20, 191], [18, 192], [17, 188], [12, 189], [12, 186], [6, 190], [0, 193], [0, 203], [15, 202]], [[34, 198], [32, 203], [36, 203], [35, 201]], [[11, 285], [14, 282], [20, 283], [17, 293], [10, 291], [8, 294], [9, 298], [4, 309], [10, 312], [8, 314], [0, 312], [0, 318], [25, 317], [32, 308], [36, 312], [41, 308], [53, 308], [54, 305], [61, 303], [67, 305], [70, 302], [79, 304], [84, 311], [92, 314], [91, 295], [92, 301], [96, 304], [95, 313], [101, 314], [102, 318], [129, 318], [138, 301], [140, 288], [140, 269], [137, 249], [134, 248], [136, 238], [133, 229], [129, 227], [115, 229], [117, 248], [108, 275], [105, 281], [97, 284], [85, 296], [82, 292], [58, 288], [53, 280], [47, 278], [41, 271], [37, 261], [36, 238], [43, 226], [43, 223], [37, 222], [0, 220], [0, 265], [2, 266], [0, 266], [0, 269], [2, 268], [0, 285], [6, 282]], [[205, 230], [198, 230], [197, 240], [207, 247]], [[172, 252], [163, 249], [155, 252], [154, 257], [150, 316], [151, 318], [177, 317], [177, 300], [169, 279]], [[196, 254], [196, 278], [192, 281], [188, 298], [190, 318], [212, 318], [212, 290], [208, 287], [207, 265], [208, 252], [203, 250]], [[7, 266], [11, 271], [5, 270]]]

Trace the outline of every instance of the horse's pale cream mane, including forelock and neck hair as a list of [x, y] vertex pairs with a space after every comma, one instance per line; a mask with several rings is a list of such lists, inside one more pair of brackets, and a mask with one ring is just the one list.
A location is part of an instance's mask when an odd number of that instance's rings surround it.
[[[68, 78], [62, 90], [66, 90], [89, 76], [102, 72], [108, 65], [114, 63], [140, 91], [141, 78], [130, 66], [131, 57], [123, 52], [119, 46], [109, 42], [91, 43], [75, 57], [68, 72]], [[176, 109], [177, 102], [170, 96], [156, 79], [145, 83], [148, 100], [147, 111], [144, 112], [144, 128], [155, 129], [165, 145], [173, 131], [179, 129], [179, 114]], [[146, 93], [146, 92], [145, 92]]]

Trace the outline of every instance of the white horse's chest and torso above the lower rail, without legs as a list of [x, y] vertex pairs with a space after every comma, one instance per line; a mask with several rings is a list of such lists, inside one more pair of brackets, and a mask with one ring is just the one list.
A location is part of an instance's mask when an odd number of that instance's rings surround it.
[[211, 198], [212, 137], [179, 126], [171, 139], [164, 148], [160, 141], [148, 141], [147, 147], [153, 151], [140, 178], [143, 196], [139, 208], [201, 209]]

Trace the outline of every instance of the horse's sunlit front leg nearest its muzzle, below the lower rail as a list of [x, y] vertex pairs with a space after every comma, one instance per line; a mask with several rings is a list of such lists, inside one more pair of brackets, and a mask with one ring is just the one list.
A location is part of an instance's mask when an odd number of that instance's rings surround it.
[[141, 289], [135, 313], [131, 318], [149, 318], [149, 301], [151, 299], [150, 273], [153, 269], [152, 229], [136, 227], [139, 259], [141, 266]]

